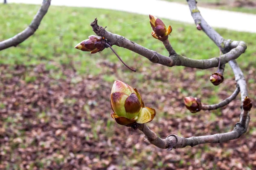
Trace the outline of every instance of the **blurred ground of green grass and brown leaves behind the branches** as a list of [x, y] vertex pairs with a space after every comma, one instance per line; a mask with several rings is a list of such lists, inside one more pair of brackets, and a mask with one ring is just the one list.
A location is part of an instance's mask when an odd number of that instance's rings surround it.
[[[0, 4], [0, 41], [23, 31], [40, 8], [8, 1]], [[198, 0], [198, 6], [256, 14], [255, 0]], [[186, 12], [191, 19], [188, 7]], [[215, 87], [209, 76], [217, 68], [168, 68], [113, 46], [127, 65], [137, 69], [134, 73], [109, 48], [100, 54], [74, 48], [94, 34], [90, 22], [95, 17], [99, 25], [108, 26], [108, 31], [168, 56], [163, 44], [151, 37], [148, 15], [50, 6], [32, 37], [16, 48], [0, 51], [0, 169], [256, 169], [254, 108], [249, 129], [239, 139], [172, 151], [148, 144], [140, 130], [131, 135], [130, 128], [118, 125], [110, 116], [115, 80], [137, 88], [145, 106], [157, 111], [147, 125], [162, 138], [172, 133], [190, 137], [233, 130], [241, 112], [240, 95], [224, 108], [190, 113], [183, 104], [186, 96], [215, 104], [233, 93], [236, 81], [230, 66], [226, 65], [224, 82]], [[178, 54], [193, 59], [218, 56], [218, 47], [195, 24], [163, 21], [173, 28], [169, 40]], [[236, 24], [255, 23], [245, 21]], [[256, 34], [221, 28], [216, 31], [226, 39], [247, 43], [237, 62], [256, 105]]]

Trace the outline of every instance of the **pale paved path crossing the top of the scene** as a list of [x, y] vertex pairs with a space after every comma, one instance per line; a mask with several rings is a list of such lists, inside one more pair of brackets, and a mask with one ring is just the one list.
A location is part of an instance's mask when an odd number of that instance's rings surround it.
[[[7, 0], [7, 2], [41, 4], [42, 0]], [[52, 0], [52, 5], [113, 9], [194, 23], [187, 5], [162, 0]], [[256, 14], [198, 8], [212, 27], [256, 33]]]

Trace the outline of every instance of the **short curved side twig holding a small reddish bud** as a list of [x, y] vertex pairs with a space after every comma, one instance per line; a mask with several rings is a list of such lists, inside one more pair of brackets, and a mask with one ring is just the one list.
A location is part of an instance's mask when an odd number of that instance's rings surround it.
[[207, 110], [210, 111], [210, 110], [222, 108], [225, 105], [228, 105], [233, 99], [235, 99], [236, 96], [239, 94], [239, 92], [240, 92], [240, 89], [236, 88], [234, 93], [231, 96], [229, 96], [227, 99], [224, 99], [223, 101], [219, 102], [218, 104], [214, 104], [214, 105], [202, 105], [201, 109], [204, 111], [207, 111]]

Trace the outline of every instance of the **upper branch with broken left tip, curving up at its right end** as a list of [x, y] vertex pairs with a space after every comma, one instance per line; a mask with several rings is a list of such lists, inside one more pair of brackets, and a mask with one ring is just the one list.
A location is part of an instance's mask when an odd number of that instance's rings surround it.
[[[90, 25], [92, 26], [93, 31], [98, 36], [105, 37], [111, 43], [111, 45], [117, 45], [119, 47], [127, 48], [128, 50], [134, 51], [135, 53], [146, 57], [151, 62], [166, 65], [169, 67], [175, 65], [182, 65], [186, 67], [200, 69], [218, 67], [219, 57], [214, 57], [211, 59], [190, 59], [176, 53], [170, 55], [169, 57], [166, 57], [157, 53], [156, 51], [152, 51], [148, 48], [138, 45], [137, 43], [132, 42], [125, 37], [106, 31], [102, 26], [99, 26], [97, 22], [98, 20], [97, 18], [95, 18], [95, 20]], [[221, 65], [226, 64], [232, 59], [238, 58], [242, 53], [244, 53], [246, 48], [247, 47], [246, 45], [244, 45], [244, 42], [239, 42], [235, 48], [230, 50], [227, 54], [221, 56]]]

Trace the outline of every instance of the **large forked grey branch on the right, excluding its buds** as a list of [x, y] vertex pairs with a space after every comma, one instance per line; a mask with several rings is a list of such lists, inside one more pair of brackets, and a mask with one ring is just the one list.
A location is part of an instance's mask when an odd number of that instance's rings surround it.
[[[235, 74], [236, 82], [237, 82], [237, 89], [236, 91], [224, 101], [215, 104], [215, 105], [204, 105], [204, 110], [212, 110], [223, 107], [227, 105], [230, 101], [235, 99], [235, 97], [239, 94], [239, 90], [241, 91], [241, 101], [244, 101], [244, 98], [248, 96], [246, 82], [243, 76], [243, 73], [239, 66], [237, 65], [234, 59], [238, 58], [244, 51], [246, 50], [247, 46], [245, 42], [242, 41], [231, 41], [225, 40], [218, 34], [212, 27], [210, 27], [204, 18], [201, 16], [200, 11], [196, 6], [195, 0], [187, 0], [189, 4], [189, 8], [192, 14], [193, 19], [195, 20], [195, 24], [197, 28], [203, 30], [207, 36], [215, 42], [218, 47], [221, 47], [221, 51], [223, 55], [220, 57], [213, 57], [211, 59], [190, 59], [187, 57], [183, 57], [175, 52], [170, 44], [169, 40], [161, 40], [165, 45], [167, 51], [169, 51], [169, 57], [163, 56], [156, 51], [149, 50], [141, 45], [138, 45], [131, 40], [126, 39], [117, 34], [112, 34], [109, 31], [106, 31], [105, 28], [99, 26], [97, 23], [97, 19], [95, 19], [90, 25], [93, 28], [93, 31], [101, 37], [104, 37], [111, 43], [111, 45], [117, 45], [119, 47], [127, 48], [131, 51], [134, 51], [146, 58], [148, 58], [151, 62], [166, 65], [169, 67], [175, 65], [182, 65], [191, 68], [201, 68], [207, 69], [212, 67], [218, 67], [218, 72], [223, 74], [225, 64], [228, 62]], [[154, 36], [153, 36], [154, 37]], [[220, 62], [219, 62], [220, 61]], [[150, 130], [147, 125], [145, 124], [138, 124], [139, 129], [145, 134], [145, 138], [151, 144], [154, 144], [160, 148], [179, 148], [179, 147], [186, 147], [186, 146], [195, 146], [197, 144], [203, 143], [216, 143], [216, 142], [227, 142], [232, 139], [239, 138], [243, 133], [247, 131], [247, 127], [250, 122], [249, 110], [241, 111], [240, 122], [236, 123], [234, 129], [228, 133], [219, 133], [214, 135], [207, 135], [207, 136], [196, 136], [190, 138], [184, 138], [177, 136], [175, 134], [169, 135], [166, 139], [160, 139], [156, 133]]]

